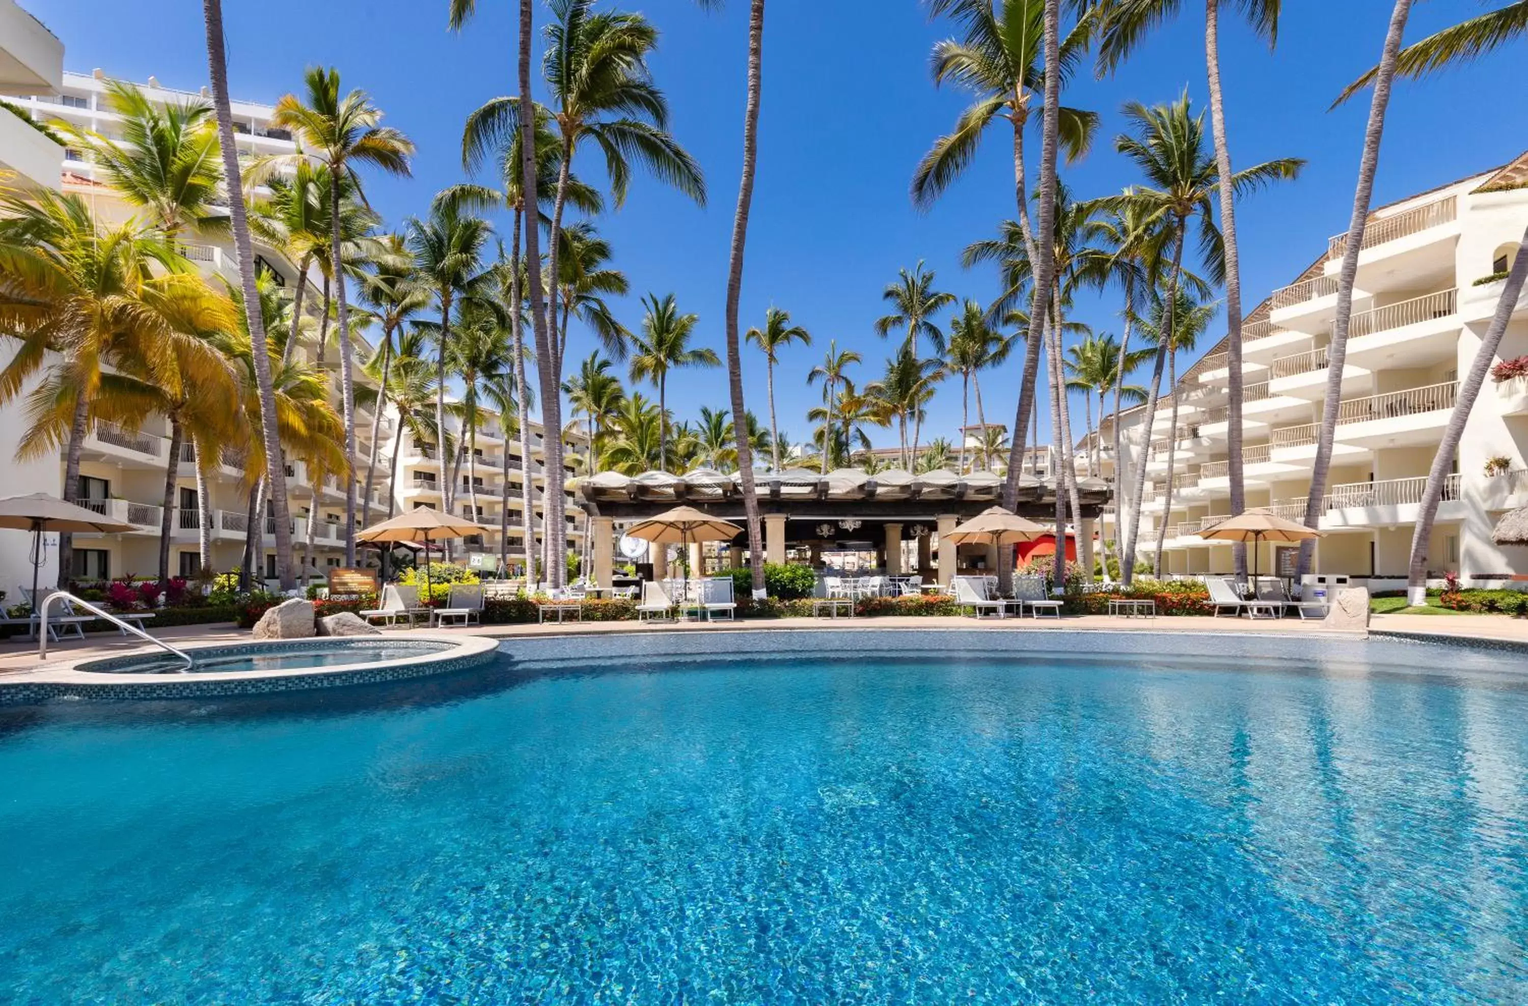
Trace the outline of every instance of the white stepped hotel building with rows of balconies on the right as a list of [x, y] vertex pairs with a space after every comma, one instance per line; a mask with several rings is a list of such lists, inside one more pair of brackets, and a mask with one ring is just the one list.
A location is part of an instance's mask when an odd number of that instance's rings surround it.
[[[1404, 582], [1418, 501], [1528, 224], [1528, 154], [1513, 163], [1383, 206], [1369, 217], [1342, 376], [1316, 572]], [[1242, 327], [1244, 473], [1248, 507], [1303, 521], [1326, 394], [1326, 347], [1345, 235]], [[1316, 250], [1316, 249], [1313, 249]], [[1528, 299], [1499, 359], [1528, 354]], [[1180, 380], [1178, 429], [1166, 397], [1144, 435], [1144, 409], [1122, 414], [1134, 469], [1148, 453], [1138, 556], [1166, 524], [1164, 572], [1230, 572], [1230, 545], [1195, 536], [1230, 513], [1227, 359], [1221, 342]], [[1103, 423], [1103, 443], [1112, 438]], [[1177, 450], [1169, 473], [1170, 437]], [[1491, 528], [1528, 504], [1528, 382], [1487, 379], [1470, 414], [1429, 545], [1429, 572], [1467, 580], [1528, 579], [1528, 550], [1497, 547]], [[1172, 493], [1169, 504], [1169, 478]], [[1111, 528], [1112, 536], [1112, 528]], [[1288, 550], [1288, 551], [1287, 551]], [[1261, 568], [1288, 572], [1293, 548], [1264, 547]]]

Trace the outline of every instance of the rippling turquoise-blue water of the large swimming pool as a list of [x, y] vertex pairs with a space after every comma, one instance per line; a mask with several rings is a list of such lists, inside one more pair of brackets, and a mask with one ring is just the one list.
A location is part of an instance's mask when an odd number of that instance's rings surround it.
[[0, 1001], [1528, 1001], [1520, 656], [1091, 646], [9, 710]]

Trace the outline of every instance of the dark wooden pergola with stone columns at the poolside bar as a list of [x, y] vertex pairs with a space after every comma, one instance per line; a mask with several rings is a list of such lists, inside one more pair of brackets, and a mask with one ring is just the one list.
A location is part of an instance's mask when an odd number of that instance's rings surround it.
[[[759, 511], [764, 519], [766, 562], [785, 562], [790, 547], [807, 547], [817, 556], [839, 542], [871, 543], [885, 556], [889, 574], [903, 572], [902, 542], [918, 542], [918, 572], [937, 576], [940, 583], [958, 572], [960, 553], [947, 540], [963, 521], [992, 507], [1002, 495], [1002, 478], [990, 472], [957, 475], [935, 470], [909, 475], [889, 470], [866, 475], [857, 469], [836, 469], [821, 473], [807, 469], [759, 472], [755, 475]], [[700, 469], [685, 475], [643, 472], [626, 476], [614, 472], [578, 479], [573, 484], [579, 505], [591, 518], [593, 576], [608, 583], [613, 572], [616, 524], [645, 521], [659, 513], [686, 505], [733, 524], [746, 521], [743, 487], [738, 475]], [[1102, 479], [1080, 479], [1077, 484], [1082, 527], [1076, 528], [1082, 559], [1093, 562], [1094, 521], [1109, 501], [1109, 487]], [[1039, 524], [1050, 524], [1056, 514], [1056, 485], [1050, 479], [1025, 478], [1019, 482], [1016, 511]], [[937, 553], [934, 539], [938, 539]], [[732, 563], [741, 565], [747, 536], [727, 542]], [[698, 553], [698, 547], [692, 547]], [[989, 550], [995, 551], [995, 550]], [[698, 554], [691, 557], [692, 568]], [[987, 557], [995, 568], [996, 556]], [[660, 554], [654, 576], [666, 574]]]

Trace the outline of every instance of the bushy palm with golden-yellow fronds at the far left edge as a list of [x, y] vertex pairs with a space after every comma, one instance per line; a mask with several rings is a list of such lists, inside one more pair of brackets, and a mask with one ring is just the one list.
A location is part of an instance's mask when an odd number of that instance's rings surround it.
[[90, 423], [136, 427], [160, 403], [144, 368], [167, 369], [177, 354], [206, 362], [200, 333], [228, 318], [212, 301], [154, 227], [101, 227], [78, 195], [0, 197], [0, 331], [18, 342], [0, 405], [26, 392], [18, 458], [64, 447], [64, 496], [75, 498]]

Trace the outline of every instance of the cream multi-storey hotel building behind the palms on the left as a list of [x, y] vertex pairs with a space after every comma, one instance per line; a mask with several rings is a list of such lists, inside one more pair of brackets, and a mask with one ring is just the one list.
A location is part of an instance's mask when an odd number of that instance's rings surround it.
[[[63, 44], [35, 18], [12, 0], [0, 0], [0, 98], [29, 113], [35, 121], [64, 119], [93, 130], [105, 137], [116, 136], [118, 116], [107, 108], [105, 75], [63, 72]], [[185, 102], [205, 98], [206, 93], [177, 92], [160, 87], [150, 78], [141, 84], [154, 101]], [[274, 108], [264, 104], [232, 102], [234, 128], [238, 133], [241, 156], [281, 154], [296, 150], [290, 134], [270, 125]], [[66, 150], [47, 139], [20, 118], [0, 107], [0, 171], [9, 176], [9, 186], [35, 186], [78, 194], [87, 200], [101, 220], [118, 221], [133, 215], [134, 209], [95, 177], [95, 168], [81, 151]], [[203, 273], [238, 276], [238, 263], [231, 240], [197, 240], [186, 249], [189, 258], [202, 266]], [[295, 289], [298, 269], [278, 252], [255, 249], [257, 269], [269, 270], [281, 285]], [[316, 273], [309, 278], [307, 305], [316, 313], [321, 293], [315, 284]], [[301, 347], [299, 359], [312, 359], [312, 348]], [[0, 366], [9, 362], [14, 347], [0, 339]], [[338, 368], [330, 353], [325, 366]], [[338, 382], [336, 382], [338, 383]], [[391, 412], [391, 411], [390, 411]], [[358, 408], [358, 470], [359, 490], [365, 487], [367, 461], [371, 453], [373, 415]], [[449, 423], [449, 420], [448, 420]], [[0, 408], [0, 466], [6, 473], [3, 495], [44, 492], [63, 495], [63, 458], [17, 461], [17, 443], [23, 432], [23, 401], [17, 400]], [[536, 499], [544, 488], [544, 455], [541, 452], [541, 427], [532, 426], [533, 438], [533, 487]], [[371, 519], [387, 516], [394, 510], [420, 505], [440, 507], [439, 463], [429, 446], [414, 444], [406, 432], [399, 432], [396, 414], [384, 414], [379, 434], [377, 475], [371, 498]], [[510, 551], [523, 548], [516, 527], [521, 522], [520, 502], [520, 444], [506, 443], [497, 421], [477, 434], [477, 518], [495, 528], [483, 540], [468, 542], [471, 551], [498, 551], [497, 528], [500, 524], [500, 498], [503, 461], [510, 461]], [[163, 417], [150, 417], [138, 429], [124, 429], [110, 423], [92, 426], [79, 467], [79, 492], [75, 502], [136, 525], [138, 530], [121, 534], [76, 534], [73, 537], [73, 574], [79, 577], [119, 577], [125, 574], [153, 576], [159, 565], [159, 536], [163, 516], [165, 470], [168, 463], [170, 427]], [[390, 479], [391, 459], [397, 452], [396, 478]], [[197, 498], [194, 449], [182, 447], [180, 469], [171, 519], [170, 569], [194, 572], [199, 565], [199, 539], [202, 507]], [[225, 456], [209, 478], [212, 518], [212, 565], [226, 571], [240, 562], [249, 519], [248, 482], [241, 459]], [[455, 507], [468, 513], [468, 463], [461, 463], [458, 475], [461, 487], [455, 493]], [[307, 518], [316, 514], [312, 565], [319, 571], [339, 566], [344, 560], [342, 519], [344, 484], [330, 476], [315, 484], [301, 461], [287, 464], [287, 495], [292, 510], [293, 542], [301, 560], [307, 542]], [[358, 496], [361, 492], [358, 490]], [[570, 493], [571, 499], [571, 493]], [[358, 511], [364, 501], [358, 499]], [[538, 510], [538, 527], [541, 510]], [[362, 521], [358, 513], [358, 524]], [[274, 521], [266, 521], [263, 566], [266, 576], [275, 576]], [[582, 540], [582, 511], [568, 508], [567, 537], [570, 547]], [[57, 536], [44, 536], [41, 580], [57, 579]], [[31, 582], [29, 562], [31, 536], [21, 531], [0, 531], [0, 591], [6, 591], [8, 603], [20, 598], [18, 586]]]

